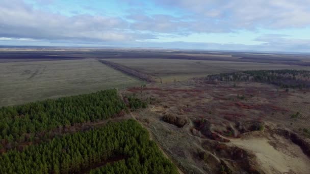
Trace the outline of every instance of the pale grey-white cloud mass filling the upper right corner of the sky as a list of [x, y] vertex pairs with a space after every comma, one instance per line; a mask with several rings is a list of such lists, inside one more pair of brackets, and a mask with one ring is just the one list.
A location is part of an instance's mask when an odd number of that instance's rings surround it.
[[215, 19], [232, 30], [304, 27], [310, 25], [310, 1], [304, 0], [156, 0], [170, 9], [183, 10], [197, 20]]

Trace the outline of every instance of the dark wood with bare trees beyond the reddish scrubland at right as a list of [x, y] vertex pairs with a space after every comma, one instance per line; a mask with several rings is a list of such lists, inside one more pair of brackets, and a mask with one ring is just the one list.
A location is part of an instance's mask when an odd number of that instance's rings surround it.
[[207, 80], [255, 81], [280, 86], [281, 88], [310, 88], [310, 71], [304, 70], [255, 70], [236, 73], [208, 75]]

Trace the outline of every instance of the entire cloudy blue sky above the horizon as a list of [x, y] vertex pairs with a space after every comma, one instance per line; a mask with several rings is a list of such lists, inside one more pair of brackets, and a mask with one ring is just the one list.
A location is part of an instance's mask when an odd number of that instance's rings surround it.
[[310, 0], [0, 0], [0, 45], [310, 52]]

